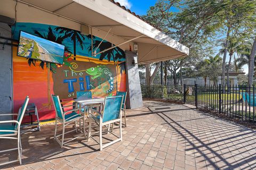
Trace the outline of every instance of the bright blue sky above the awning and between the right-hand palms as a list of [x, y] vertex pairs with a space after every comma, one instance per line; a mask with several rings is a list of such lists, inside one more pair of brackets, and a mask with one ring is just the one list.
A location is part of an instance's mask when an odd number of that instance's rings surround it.
[[[132, 12], [135, 12], [137, 15], [145, 15], [147, 10], [149, 10], [150, 6], [154, 6], [157, 0], [115, 0], [115, 2], [119, 2], [121, 5], [125, 6], [126, 8], [130, 9]], [[216, 47], [216, 53], [220, 47]], [[236, 56], [237, 57], [237, 56]], [[229, 56], [227, 54], [226, 62], [229, 61]], [[232, 62], [234, 58], [232, 58]], [[243, 66], [244, 72], [248, 73], [248, 66]]]

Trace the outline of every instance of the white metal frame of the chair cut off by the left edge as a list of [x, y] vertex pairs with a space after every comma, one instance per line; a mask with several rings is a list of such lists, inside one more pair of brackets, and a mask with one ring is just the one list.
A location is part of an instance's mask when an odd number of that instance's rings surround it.
[[[25, 108], [24, 108], [23, 112], [20, 113], [21, 117], [20, 117], [20, 121], [19, 122], [15, 121], [15, 120], [0, 121], [0, 124], [1, 123], [15, 123], [15, 124], [18, 124], [17, 130], [0, 130], [0, 132], [14, 132], [13, 134], [0, 134], [0, 139], [17, 139], [17, 142], [18, 142], [18, 147], [17, 148], [6, 149], [6, 150], [1, 150], [0, 151], [0, 153], [2, 153], [2, 152], [12, 151], [12, 150], [18, 150], [18, 159], [2, 163], [2, 164], [0, 164], [0, 166], [6, 165], [6, 164], [10, 164], [10, 163], [15, 163], [15, 162], [20, 162], [20, 165], [22, 164], [22, 162], [21, 162], [22, 146], [21, 146], [21, 139], [20, 139], [20, 125], [21, 125], [24, 113], [26, 111], [26, 107], [28, 105], [28, 101], [29, 101], [29, 98], [28, 98], [27, 101], [25, 101], [26, 102], [25, 103]], [[18, 114], [1, 114], [0, 116], [13, 116], [13, 115], [17, 115], [18, 116]]]

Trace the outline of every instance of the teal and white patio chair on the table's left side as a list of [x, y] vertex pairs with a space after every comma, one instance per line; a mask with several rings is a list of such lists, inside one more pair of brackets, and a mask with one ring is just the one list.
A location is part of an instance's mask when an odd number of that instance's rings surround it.
[[[73, 131], [77, 132], [77, 128], [76, 128], [77, 121], [81, 118], [84, 121], [85, 114], [83, 112], [81, 112], [82, 108], [74, 108], [74, 109], [70, 109], [68, 111], [63, 112], [63, 107], [70, 107], [70, 106], [61, 107], [59, 96], [52, 95], [52, 101], [53, 101], [53, 105], [54, 105], [54, 108], [55, 108], [55, 114], [56, 114], [54, 139], [59, 143], [59, 145], [62, 148], [65, 143], [68, 143], [68, 142], [73, 141], [73, 140], [80, 137], [80, 136], [78, 136], [78, 137], [72, 138], [72, 139], [64, 142], [65, 134], [73, 132]], [[78, 112], [78, 111], [80, 111], [80, 112]], [[59, 121], [62, 124], [62, 133], [59, 134], [59, 135], [56, 135], [56, 133], [57, 133], [57, 121]], [[69, 125], [70, 123], [74, 123], [75, 129], [71, 130], [71, 131], [68, 131], [68, 132], [65, 132], [65, 127], [67, 125]], [[83, 123], [83, 126], [84, 126], [83, 127], [83, 133], [84, 133], [84, 137], [86, 138], [85, 124], [84, 123]], [[58, 137], [61, 137], [61, 141], [58, 139]]]

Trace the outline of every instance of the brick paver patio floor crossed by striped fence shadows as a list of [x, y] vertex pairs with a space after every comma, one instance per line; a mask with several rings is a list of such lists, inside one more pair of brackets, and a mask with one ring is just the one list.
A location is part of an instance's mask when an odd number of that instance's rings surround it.
[[[81, 138], [61, 149], [54, 125], [46, 124], [41, 132], [22, 134], [23, 165], [0, 169], [256, 169], [255, 131], [190, 105], [144, 104], [127, 111], [122, 142], [98, 151], [95, 141]], [[0, 150], [12, 147], [11, 141], [0, 143]], [[0, 155], [0, 161], [16, 155]]]

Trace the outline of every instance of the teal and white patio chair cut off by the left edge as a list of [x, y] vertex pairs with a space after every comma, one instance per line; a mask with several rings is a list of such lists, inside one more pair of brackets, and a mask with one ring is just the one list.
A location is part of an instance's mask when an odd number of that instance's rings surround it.
[[[0, 139], [17, 139], [18, 148], [1, 150], [0, 153], [17, 149], [18, 150], [18, 159], [2, 163], [2, 164], [0, 164], [0, 166], [5, 165], [5, 164], [18, 162], [18, 161], [20, 162], [20, 165], [21, 165], [22, 146], [21, 146], [21, 139], [20, 139], [20, 124], [22, 122], [22, 118], [23, 118], [24, 113], [26, 111], [26, 108], [27, 108], [27, 105], [28, 105], [28, 100], [29, 100], [29, 98], [27, 96], [23, 105], [22, 105], [22, 107], [21, 107], [21, 110], [20, 110], [19, 114], [1, 114], [1, 116], [17, 115], [17, 120], [16, 121], [15, 120], [0, 121]], [[10, 124], [10, 123], [12, 123], [12, 124]], [[2, 143], [2, 145], [3, 145], [3, 143]]]

